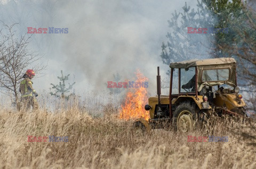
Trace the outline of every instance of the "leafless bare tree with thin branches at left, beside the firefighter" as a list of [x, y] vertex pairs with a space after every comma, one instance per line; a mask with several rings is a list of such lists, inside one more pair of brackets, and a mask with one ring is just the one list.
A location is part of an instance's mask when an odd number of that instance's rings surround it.
[[2, 21], [1, 23], [0, 88], [3, 89], [1, 93], [7, 94], [9, 91], [12, 91], [15, 103], [18, 103], [18, 86], [22, 75], [27, 69], [40, 72], [44, 70], [46, 66], [42, 65], [42, 63], [38, 64], [42, 56], [29, 50], [28, 45], [31, 36], [26, 34], [18, 38], [18, 35], [15, 35], [15, 30], [13, 29], [18, 23], [14, 23], [11, 26], [8, 26]]

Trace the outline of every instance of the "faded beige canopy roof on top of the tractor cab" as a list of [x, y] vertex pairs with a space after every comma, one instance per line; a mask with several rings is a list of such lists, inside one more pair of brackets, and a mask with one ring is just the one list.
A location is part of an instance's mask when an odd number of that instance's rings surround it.
[[195, 59], [195, 60], [170, 63], [170, 67], [182, 69], [182, 68], [188, 68], [193, 66], [210, 66], [210, 65], [221, 65], [221, 64], [230, 64], [230, 63], [234, 64], [236, 63], [236, 60], [231, 57], [209, 58], [206, 60]]

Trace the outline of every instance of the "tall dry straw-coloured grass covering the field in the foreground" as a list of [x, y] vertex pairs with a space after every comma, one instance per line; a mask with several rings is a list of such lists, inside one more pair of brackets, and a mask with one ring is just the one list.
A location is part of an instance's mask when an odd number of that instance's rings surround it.
[[[256, 168], [255, 130], [215, 120], [208, 131], [134, 132], [115, 107], [92, 118], [73, 107], [47, 113], [0, 110], [0, 168]], [[255, 126], [255, 122], [253, 124]], [[187, 142], [187, 136], [228, 136], [228, 142]], [[27, 136], [68, 136], [68, 142], [27, 142]]]

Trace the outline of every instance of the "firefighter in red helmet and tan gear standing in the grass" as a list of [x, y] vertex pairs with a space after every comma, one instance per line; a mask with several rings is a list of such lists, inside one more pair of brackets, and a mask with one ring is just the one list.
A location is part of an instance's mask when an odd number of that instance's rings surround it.
[[[32, 87], [35, 72], [31, 69], [23, 75], [24, 78], [20, 82], [20, 92], [21, 92], [21, 103], [28, 110], [31, 106], [33, 109], [38, 109], [38, 103], [35, 97], [38, 96], [36, 90]], [[35, 96], [35, 97], [34, 97]]]

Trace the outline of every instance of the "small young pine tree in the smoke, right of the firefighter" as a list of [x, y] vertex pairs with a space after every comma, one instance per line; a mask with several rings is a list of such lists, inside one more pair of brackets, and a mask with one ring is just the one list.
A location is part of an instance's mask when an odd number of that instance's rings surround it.
[[50, 94], [52, 96], [56, 96], [56, 97], [59, 97], [59, 98], [66, 98], [68, 100], [69, 96], [65, 96], [65, 93], [68, 93], [72, 88], [73, 88], [73, 85], [76, 83], [74, 82], [72, 85], [70, 85], [70, 83], [68, 83], [69, 87], [66, 88], [66, 85], [65, 85], [65, 81], [68, 80], [68, 77], [69, 77], [69, 74], [68, 75], [65, 75], [63, 76], [63, 72], [62, 70], [60, 71], [61, 72], [61, 77], [58, 77], [58, 79], [60, 80], [60, 83], [59, 85], [52, 85], [52, 88], [55, 89], [55, 93], [53, 93], [52, 91], [50, 92]]

